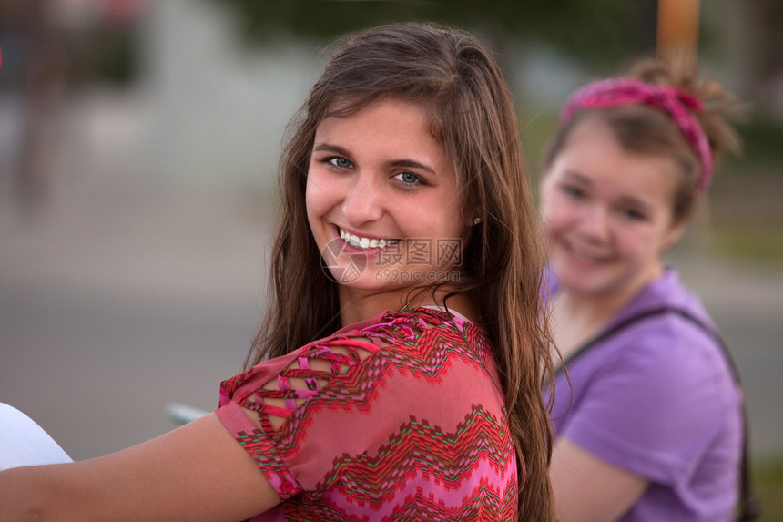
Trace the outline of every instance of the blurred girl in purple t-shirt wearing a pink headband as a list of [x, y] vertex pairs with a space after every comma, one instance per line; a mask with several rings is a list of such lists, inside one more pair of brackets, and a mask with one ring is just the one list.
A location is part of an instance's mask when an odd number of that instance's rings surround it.
[[578, 89], [544, 155], [562, 522], [728, 521], [744, 419], [737, 375], [697, 297], [664, 263], [736, 151], [737, 102], [686, 58]]

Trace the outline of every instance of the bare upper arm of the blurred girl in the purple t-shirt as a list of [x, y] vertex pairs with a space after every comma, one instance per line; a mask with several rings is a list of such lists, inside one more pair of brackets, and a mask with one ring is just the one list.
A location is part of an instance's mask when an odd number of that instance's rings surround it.
[[645, 478], [613, 466], [561, 438], [550, 468], [560, 522], [611, 522], [645, 492]]

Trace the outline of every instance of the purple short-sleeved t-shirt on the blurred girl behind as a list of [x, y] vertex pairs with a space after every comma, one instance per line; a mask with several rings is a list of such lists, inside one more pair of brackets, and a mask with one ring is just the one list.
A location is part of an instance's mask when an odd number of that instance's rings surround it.
[[[554, 275], [551, 294], [557, 291]], [[672, 269], [651, 282], [606, 328], [639, 312], [675, 306], [712, 324]], [[625, 327], [566, 364], [555, 380], [555, 438], [645, 477], [650, 486], [623, 522], [728, 521], [737, 501], [741, 392], [719, 346], [674, 313]]]

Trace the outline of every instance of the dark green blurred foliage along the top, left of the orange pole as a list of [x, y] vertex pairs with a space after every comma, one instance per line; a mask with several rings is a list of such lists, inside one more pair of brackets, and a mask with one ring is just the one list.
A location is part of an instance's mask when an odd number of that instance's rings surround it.
[[330, 40], [381, 23], [419, 20], [474, 29], [494, 43], [543, 41], [599, 67], [615, 65], [629, 51], [655, 48], [656, 0], [219, 2], [235, 10], [242, 35], [254, 43], [290, 35]]

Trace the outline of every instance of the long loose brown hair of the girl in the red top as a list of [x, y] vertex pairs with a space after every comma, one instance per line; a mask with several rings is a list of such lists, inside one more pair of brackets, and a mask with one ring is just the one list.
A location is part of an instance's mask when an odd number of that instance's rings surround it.
[[[543, 254], [524, 176], [516, 112], [493, 57], [473, 35], [394, 24], [352, 36], [333, 56], [292, 121], [280, 159], [282, 216], [271, 259], [272, 302], [248, 363], [259, 363], [340, 326], [337, 284], [321, 270], [305, 185], [315, 130], [381, 97], [415, 103], [453, 159], [463, 216], [463, 273], [450, 295], [468, 295], [494, 347], [519, 463], [521, 520], [554, 520], [548, 466], [552, 432], [542, 395], [553, 368], [539, 298]], [[338, 110], [339, 108], [339, 110]]]

